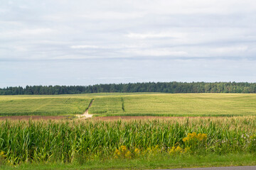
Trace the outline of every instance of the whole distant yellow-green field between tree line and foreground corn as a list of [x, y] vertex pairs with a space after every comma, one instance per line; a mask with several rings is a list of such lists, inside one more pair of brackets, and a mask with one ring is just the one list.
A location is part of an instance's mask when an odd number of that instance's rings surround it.
[[0, 115], [256, 115], [256, 94], [0, 96]]

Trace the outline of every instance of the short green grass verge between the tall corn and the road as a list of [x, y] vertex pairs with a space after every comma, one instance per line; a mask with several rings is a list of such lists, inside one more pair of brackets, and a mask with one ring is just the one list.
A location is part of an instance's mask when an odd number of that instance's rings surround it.
[[255, 166], [253, 154], [209, 154], [207, 156], [170, 158], [162, 155], [150, 159], [94, 160], [84, 164], [38, 163], [19, 166], [0, 166], [0, 169], [171, 169], [210, 166]]

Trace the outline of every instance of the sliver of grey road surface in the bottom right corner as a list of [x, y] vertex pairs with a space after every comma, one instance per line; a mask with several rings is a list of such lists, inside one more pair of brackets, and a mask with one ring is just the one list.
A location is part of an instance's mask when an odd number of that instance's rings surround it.
[[256, 170], [256, 166], [225, 166], [213, 168], [190, 168], [190, 169], [159, 169], [159, 170]]

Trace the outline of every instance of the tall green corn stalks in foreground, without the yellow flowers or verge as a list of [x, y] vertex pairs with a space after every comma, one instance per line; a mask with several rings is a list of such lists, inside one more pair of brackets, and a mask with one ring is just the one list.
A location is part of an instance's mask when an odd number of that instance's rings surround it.
[[[172, 147], [186, 149], [183, 138], [196, 132], [207, 135], [204, 154], [249, 153], [256, 118], [215, 118], [131, 121], [3, 121], [0, 152], [7, 164], [21, 162], [83, 162], [114, 159], [118, 149], [130, 157], [169, 153]], [[199, 152], [198, 152], [199, 153]]]

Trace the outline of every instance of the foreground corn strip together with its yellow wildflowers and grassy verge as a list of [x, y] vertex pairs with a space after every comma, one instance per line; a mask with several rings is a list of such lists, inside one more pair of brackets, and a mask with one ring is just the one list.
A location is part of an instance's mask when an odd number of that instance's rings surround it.
[[0, 169], [256, 164], [254, 116], [108, 122], [7, 120], [0, 121], [0, 138]]

